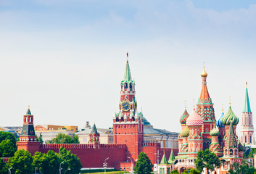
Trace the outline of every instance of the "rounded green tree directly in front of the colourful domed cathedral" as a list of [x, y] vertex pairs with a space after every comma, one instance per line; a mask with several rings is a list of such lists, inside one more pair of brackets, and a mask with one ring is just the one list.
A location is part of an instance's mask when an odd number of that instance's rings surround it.
[[195, 161], [197, 170], [202, 172], [204, 168], [207, 169], [207, 174], [209, 170], [213, 171], [215, 167], [220, 167], [220, 159], [215, 153], [210, 152], [209, 149], [204, 151], [199, 151], [197, 153], [197, 160]]

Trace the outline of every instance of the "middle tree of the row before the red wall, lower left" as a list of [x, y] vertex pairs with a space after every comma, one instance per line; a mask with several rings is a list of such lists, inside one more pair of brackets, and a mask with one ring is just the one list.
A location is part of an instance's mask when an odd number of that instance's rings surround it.
[[49, 150], [47, 154], [43, 155], [42, 158], [42, 166], [41, 170], [42, 173], [47, 174], [56, 174], [59, 173], [59, 164], [61, 163], [61, 160], [58, 157], [58, 154], [53, 152], [52, 150]]

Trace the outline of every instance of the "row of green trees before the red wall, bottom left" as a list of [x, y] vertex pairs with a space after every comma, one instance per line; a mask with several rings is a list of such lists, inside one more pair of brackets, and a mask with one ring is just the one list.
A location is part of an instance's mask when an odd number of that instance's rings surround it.
[[59, 154], [49, 150], [46, 154], [36, 152], [33, 157], [24, 149], [18, 150], [15, 152], [14, 157], [9, 158], [7, 164], [0, 160], [0, 174], [7, 173], [8, 168], [11, 167], [12, 173], [15, 174], [33, 174], [35, 170], [37, 173], [56, 174], [59, 173], [60, 166], [62, 173], [70, 169], [67, 172], [69, 174], [80, 173], [80, 169], [82, 168], [80, 159], [61, 146], [59, 148]]

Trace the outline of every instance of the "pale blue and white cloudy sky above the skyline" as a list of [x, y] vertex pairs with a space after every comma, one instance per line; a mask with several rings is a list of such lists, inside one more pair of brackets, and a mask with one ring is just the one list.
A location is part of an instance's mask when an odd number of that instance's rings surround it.
[[0, 0], [0, 126], [30, 105], [35, 125], [112, 127], [126, 52], [154, 128], [181, 131], [204, 62], [215, 117], [231, 96], [241, 120], [246, 81], [256, 107], [255, 18], [255, 1]]

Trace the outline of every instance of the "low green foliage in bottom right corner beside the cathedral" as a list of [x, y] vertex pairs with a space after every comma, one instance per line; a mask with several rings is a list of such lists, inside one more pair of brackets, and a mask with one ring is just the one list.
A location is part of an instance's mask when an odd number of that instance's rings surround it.
[[256, 173], [255, 167], [250, 167], [247, 163], [243, 162], [241, 165], [234, 162], [231, 169], [228, 170], [230, 174], [254, 174]]

